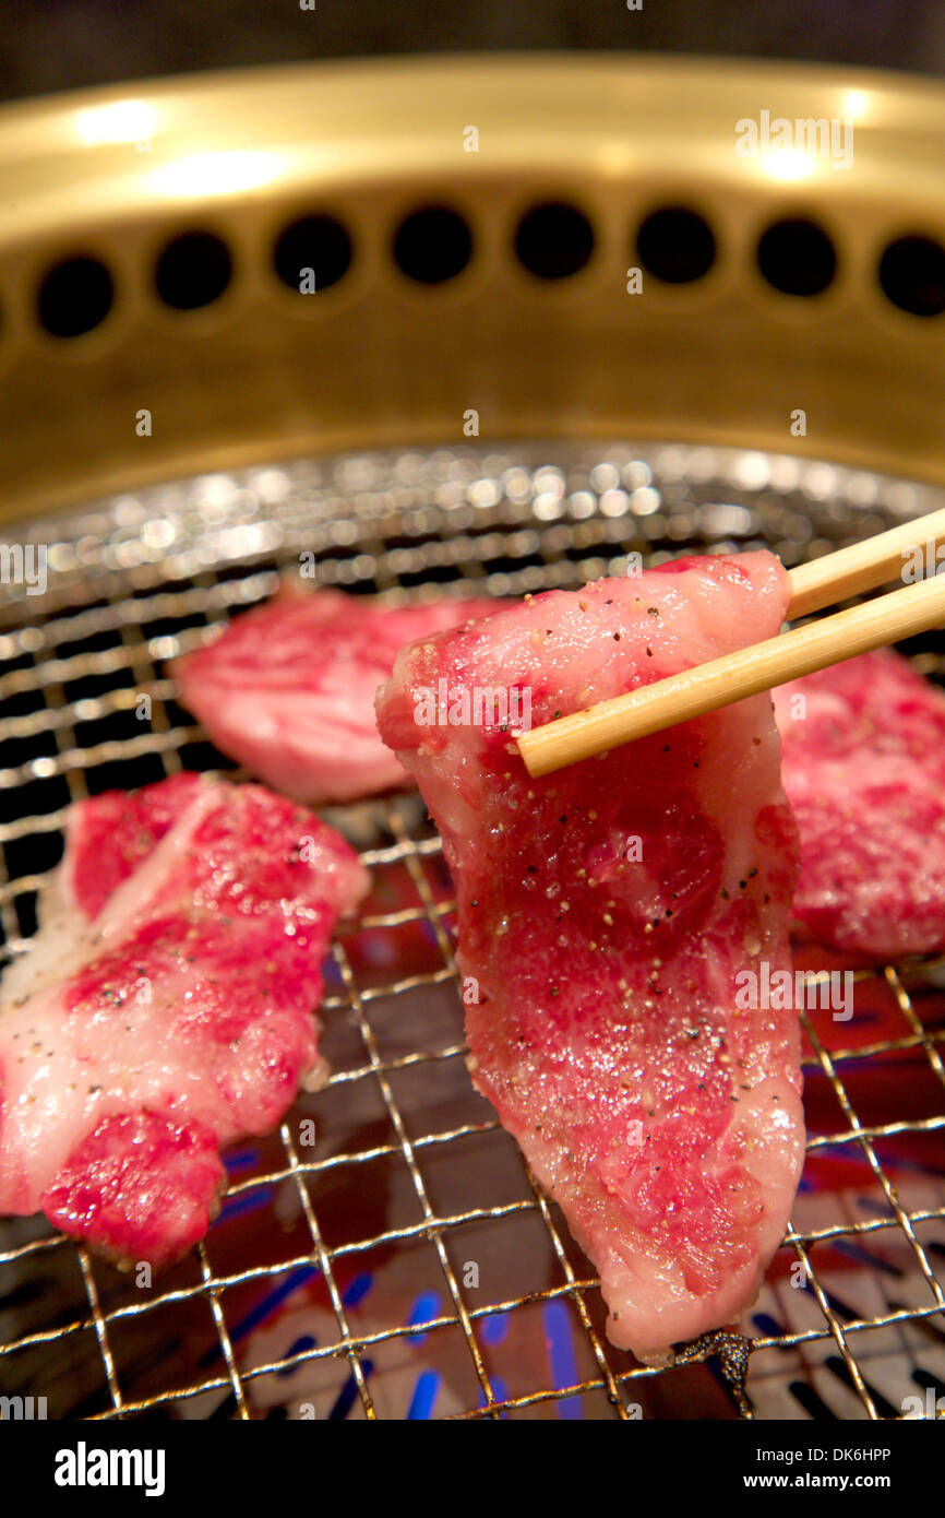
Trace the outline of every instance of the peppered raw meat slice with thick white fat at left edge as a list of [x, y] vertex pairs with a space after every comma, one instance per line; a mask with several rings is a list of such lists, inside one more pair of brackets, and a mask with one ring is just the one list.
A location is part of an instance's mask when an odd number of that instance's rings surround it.
[[182, 774], [73, 806], [0, 987], [0, 1211], [120, 1263], [196, 1243], [221, 1145], [322, 1075], [322, 958], [366, 888], [338, 833], [262, 786]]

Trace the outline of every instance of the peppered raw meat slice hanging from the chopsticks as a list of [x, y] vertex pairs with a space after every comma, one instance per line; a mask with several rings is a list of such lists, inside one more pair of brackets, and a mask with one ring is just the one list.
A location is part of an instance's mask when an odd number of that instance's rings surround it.
[[801, 1172], [796, 1013], [736, 1000], [790, 970], [771, 700], [542, 780], [501, 723], [416, 718], [446, 679], [470, 709], [529, 691], [538, 724], [774, 636], [787, 598], [764, 553], [552, 591], [403, 650], [378, 697], [457, 883], [473, 1084], [646, 1359], [751, 1301]]

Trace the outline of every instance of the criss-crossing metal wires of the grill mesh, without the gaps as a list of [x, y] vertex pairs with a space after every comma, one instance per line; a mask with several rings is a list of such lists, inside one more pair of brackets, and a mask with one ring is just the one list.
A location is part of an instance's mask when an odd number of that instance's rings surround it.
[[[522, 445], [504, 454], [466, 448], [431, 454], [358, 454], [303, 460], [238, 475], [199, 477], [97, 502], [88, 512], [55, 521], [30, 521], [23, 524], [18, 537], [9, 537], [46, 545], [53, 569], [46, 595], [27, 598], [26, 606], [23, 595], [15, 595], [14, 587], [0, 586], [0, 615], [8, 627], [0, 633], [0, 657], [12, 659], [14, 663], [18, 657], [32, 660], [29, 666], [5, 674], [0, 701], [29, 698], [42, 691], [42, 704], [35, 712], [8, 718], [6, 732], [15, 741], [27, 744], [42, 733], [52, 753], [0, 768], [0, 798], [12, 803], [9, 815], [5, 809], [6, 820], [0, 826], [3, 855], [6, 858], [9, 844], [21, 844], [33, 833], [55, 833], [62, 823], [62, 808], [44, 814], [18, 814], [17, 797], [27, 783], [64, 782], [70, 802], [76, 802], [86, 794], [86, 777], [99, 764], [129, 765], [150, 757], [159, 759], [168, 774], [181, 768], [182, 750], [197, 742], [200, 735], [196, 727], [184, 729], [176, 723], [173, 704], [168, 710], [174, 688], [159, 672], [158, 662], [194, 647], [206, 636], [206, 627], [161, 631], [150, 638], [144, 636], [146, 628], [164, 622], [170, 625], [188, 616], [221, 621], [224, 612], [240, 610], [265, 597], [279, 572], [297, 571], [299, 556], [305, 551], [316, 553], [320, 584], [369, 587], [390, 598], [405, 594], [405, 581], [411, 594], [419, 591], [422, 595], [444, 591], [514, 594], [551, 584], [578, 584], [607, 569], [620, 572], [625, 554], [631, 550], [670, 556], [692, 551], [699, 543], [710, 551], [731, 551], [764, 542], [775, 546], [786, 563], [793, 563], [808, 553], [840, 546], [883, 525], [933, 510], [942, 504], [940, 495], [931, 487], [883, 480], [863, 471], [774, 455], [675, 443], [645, 448], [554, 443]], [[805, 524], [810, 524], [810, 530]], [[502, 568], [490, 571], [490, 565]], [[440, 578], [432, 578], [435, 575]], [[71, 654], [65, 660], [47, 657], [50, 650], [58, 653], [70, 642], [94, 638], [108, 638], [111, 644]], [[945, 676], [943, 651], [925, 648], [916, 659], [925, 672]], [[130, 685], [115, 683], [111, 692], [70, 698], [68, 688], [77, 680], [124, 676], [129, 676]], [[140, 739], [103, 739], [97, 745], [82, 745], [76, 726], [127, 713], [141, 694], [152, 697], [152, 720]], [[138, 782], [129, 779], [127, 783]], [[452, 903], [437, 897], [425, 870], [425, 862], [438, 856], [438, 839], [425, 829], [410, 794], [361, 808], [328, 809], [325, 815], [355, 841], [361, 841], [363, 862], [372, 871], [402, 867], [413, 882], [416, 905], [363, 918], [359, 929], [393, 934], [407, 924], [423, 923], [441, 961], [423, 975], [363, 988], [346, 947], [350, 929], [343, 929], [332, 947], [335, 979], [341, 990], [325, 999], [322, 1017], [331, 1020], [350, 1016], [361, 1038], [363, 1063], [332, 1075], [329, 1090], [353, 1081], [373, 1082], [394, 1142], [305, 1161], [299, 1155], [291, 1117], [287, 1119], [279, 1129], [279, 1164], [262, 1175], [235, 1181], [228, 1201], [247, 1196], [262, 1186], [291, 1184], [309, 1233], [308, 1252], [264, 1268], [249, 1268], [238, 1275], [220, 1275], [212, 1264], [212, 1251], [203, 1242], [197, 1251], [199, 1280], [193, 1286], [155, 1292], [137, 1304], [109, 1304], [111, 1287], [108, 1283], [102, 1284], [102, 1268], [83, 1248], [71, 1245], [62, 1236], [6, 1245], [9, 1225], [0, 1225], [0, 1242], [5, 1245], [0, 1248], [0, 1268], [9, 1266], [29, 1275], [30, 1266], [41, 1264], [49, 1251], [68, 1251], [74, 1254], [88, 1304], [83, 1318], [38, 1328], [18, 1339], [0, 1337], [0, 1384], [3, 1366], [12, 1363], [8, 1357], [15, 1357], [15, 1353], [53, 1353], [62, 1348], [68, 1353], [71, 1336], [91, 1331], [100, 1357], [102, 1387], [111, 1406], [89, 1416], [126, 1418], [174, 1407], [179, 1410], [177, 1404], [190, 1398], [221, 1394], [224, 1407], [232, 1406], [237, 1416], [249, 1418], [253, 1413], [253, 1381], [259, 1377], [329, 1359], [347, 1366], [361, 1413], [366, 1418], [376, 1416], [370, 1374], [364, 1369], [367, 1351], [382, 1342], [410, 1339], [411, 1334], [416, 1337], [417, 1325], [402, 1322], [372, 1334], [352, 1328], [335, 1266], [340, 1260], [378, 1248], [384, 1240], [372, 1236], [341, 1246], [326, 1245], [317, 1216], [317, 1181], [337, 1166], [363, 1164], [388, 1151], [402, 1158], [422, 1214], [414, 1225], [394, 1230], [394, 1237], [388, 1242], [403, 1246], [425, 1239], [432, 1245], [452, 1310], [425, 1321], [423, 1331], [458, 1330], [481, 1392], [481, 1406], [464, 1407], [455, 1416], [478, 1419], [504, 1413], [528, 1415], [538, 1409], [551, 1412], [555, 1403], [569, 1397], [596, 1394], [605, 1400], [610, 1415], [623, 1419], [636, 1416], [634, 1394], [664, 1371], [626, 1368], [626, 1357], [605, 1342], [599, 1331], [596, 1281], [587, 1269], [581, 1272], [576, 1268], [573, 1245], [567, 1240], [557, 1210], [531, 1176], [529, 1196], [499, 1207], [460, 1208], [441, 1214], [431, 1204], [423, 1173], [425, 1155], [435, 1151], [437, 1145], [457, 1145], [464, 1137], [499, 1128], [491, 1119], [419, 1138], [413, 1135], [391, 1076], [423, 1064], [461, 1060], [463, 1044], [457, 1041], [437, 1049], [417, 1047], [390, 1058], [384, 1055], [372, 1025], [372, 1002], [379, 997], [408, 999], [422, 985], [457, 981], [447, 932]], [[38, 826], [36, 817], [41, 817]], [[390, 841], [372, 847], [372, 833]], [[27, 937], [18, 902], [32, 899], [47, 876], [49, 871], [23, 871], [14, 877], [5, 873], [0, 920], [8, 953], [26, 949]], [[859, 979], [883, 979], [904, 1022], [901, 1038], [871, 1046], [866, 1057], [881, 1060], [899, 1050], [922, 1050], [931, 1075], [945, 1088], [945, 1023], [931, 1029], [924, 1026], [921, 1013], [916, 1011], [913, 984], [918, 975], [919, 987], [934, 985], [939, 970], [945, 970], [945, 956], [921, 965], [909, 962], [859, 972]], [[880, 1419], [883, 1413], [877, 1401], [881, 1404], [881, 1398], [871, 1387], [868, 1371], [857, 1354], [857, 1336], [872, 1328], [916, 1325], [945, 1313], [945, 1272], [939, 1269], [936, 1274], [921, 1237], [922, 1225], [945, 1222], [945, 1192], [942, 1205], [904, 1208], [877, 1146], [906, 1132], [945, 1129], [945, 1101], [940, 1114], [931, 1119], [910, 1120], [906, 1116], [884, 1125], [862, 1125], [846, 1093], [843, 1070], [851, 1061], [865, 1057], [863, 1049], [827, 1047], [810, 1019], [804, 1017], [804, 1026], [812, 1049], [805, 1072], [818, 1070], [825, 1076], [846, 1123], [837, 1132], [810, 1138], [808, 1154], [846, 1146], [859, 1151], [886, 1198], [890, 1217], [868, 1217], [859, 1224], [840, 1219], [819, 1228], [792, 1227], [784, 1245], [807, 1272], [824, 1319], [822, 1327], [760, 1336], [752, 1340], [751, 1348], [757, 1354], [771, 1348], [801, 1350], [833, 1340], [862, 1406], [862, 1416]], [[314, 1199], [308, 1187], [309, 1178], [316, 1183]], [[467, 1301], [446, 1246], [455, 1236], [454, 1231], [469, 1224], [494, 1225], [526, 1211], [542, 1220], [561, 1281], [508, 1299], [485, 1304]], [[928, 1286], [930, 1304], [845, 1321], [831, 1302], [830, 1286], [821, 1280], [816, 1263], [810, 1260], [812, 1249], [831, 1239], [857, 1243], [886, 1228], [893, 1228], [896, 1237], [906, 1240]], [[337, 1322], [337, 1340], [268, 1363], [241, 1366], [232, 1324], [228, 1322], [226, 1290], [237, 1280], [246, 1281], [256, 1275], [276, 1280], [306, 1263], [317, 1264], [323, 1272]], [[129, 1319], [144, 1321], [150, 1312], [171, 1310], [197, 1298], [212, 1316], [223, 1369], [203, 1377], [196, 1371], [184, 1389], [168, 1389], [144, 1398], [126, 1397], [115, 1342]], [[566, 1386], [535, 1386], [523, 1394], [496, 1397], [476, 1333], [478, 1325], [494, 1315], [555, 1299], [572, 1304], [596, 1372]], [[728, 1366], [728, 1383], [739, 1404], [745, 1378], [739, 1351], [740, 1342], [733, 1336], [707, 1336], [707, 1340], [684, 1350], [675, 1365], [721, 1357], [724, 1366]], [[751, 1416], [746, 1403], [740, 1404], [740, 1410]]]

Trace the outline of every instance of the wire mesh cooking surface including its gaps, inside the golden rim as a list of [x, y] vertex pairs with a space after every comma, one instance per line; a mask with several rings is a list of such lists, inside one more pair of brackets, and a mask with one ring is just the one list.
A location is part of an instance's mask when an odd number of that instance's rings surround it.
[[[939, 504], [793, 458], [554, 445], [202, 477], [32, 522], [20, 542], [42, 546], [47, 584], [0, 586], [6, 956], [27, 946], [71, 802], [232, 768], [164, 662], [282, 572], [308, 562], [319, 584], [394, 600], [510, 595], [619, 574], [634, 553], [764, 545], [792, 565]], [[936, 639], [909, 653], [945, 674]], [[419, 798], [326, 817], [373, 879], [332, 949], [328, 1087], [226, 1157], [220, 1219], [153, 1284], [35, 1219], [0, 1224], [8, 1395], [88, 1418], [936, 1415], [945, 959], [860, 970], [852, 1022], [805, 1017], [805, 1178], [748, 1337], [639, 1366], [469, 1084], [452, 891]]]

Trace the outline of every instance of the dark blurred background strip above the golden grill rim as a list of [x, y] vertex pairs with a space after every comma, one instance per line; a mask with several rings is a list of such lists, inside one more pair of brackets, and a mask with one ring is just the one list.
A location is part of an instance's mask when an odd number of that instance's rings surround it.
[[945, 0], [0, 0], [0, 99], [370, 53], [727, 53], [945, 73]]

